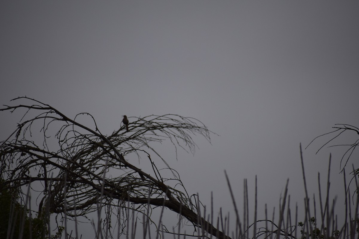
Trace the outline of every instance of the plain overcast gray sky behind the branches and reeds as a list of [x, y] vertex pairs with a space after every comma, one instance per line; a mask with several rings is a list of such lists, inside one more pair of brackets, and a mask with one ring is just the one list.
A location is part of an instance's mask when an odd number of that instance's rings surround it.
[[[195, 137], [195, 156], [178, 161], [157, 148], [190, 194], [208, 204], [213, 191], [216, 209], [232, 210], [227, 170], [239, 204], [257, 175], [260, 212], [278, 207], [287, 178], [304, 208], [299, 143], [358, 126], [358, 12], [358, 1], [1, 1], [0, 103], [26, 95], [88, 112], [105, 134], [123, 114], [194, 117], [220, 135], [212, 145]], [[0, 117], [4, 140], [20, 118]], [[340, 199], [344, 149], [315, 155], [325, 142], [304, 150], [309, 194], [332, 152]]]

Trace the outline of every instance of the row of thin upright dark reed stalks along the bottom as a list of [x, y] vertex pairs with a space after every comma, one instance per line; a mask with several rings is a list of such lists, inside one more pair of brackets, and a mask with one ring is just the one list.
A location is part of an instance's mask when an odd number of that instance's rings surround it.
[[[265, 206], [265, 218], [257, 219], [257, 179], [256, 179], [256, 188], [255, 188], [255, 209], [254, 211], [249, 210], [248, 204], [248, 188], [247, 180], [244, 180], [243, 188], [243, 210], [240, 211], [240, 207], [237, 204], [233, 196], [232, 185], [228, 179], [227, 173], [225, 172], [225, 177], [227, 179], [227, 186], [229, 189], [229, 195], [232, 199], [232, 204], [234, 208], [235, 215], [224, 214], [222, 210], [219, 212], [219, 216], [214, 217], [213, 209], [213, 200], [211, 200], [210, 210], [207, 210], [205, 206], [202, 206], [202, 210], [198, 211], [198, 220], [200, 217], [207, 219], [213, 225], [216, 225], [216, 228], [220, 229], [225, 238], [238, 238], [238, 239], [279, 239], [279, 238], [290, 238], [290, 239], [354, 239], [359, 238], [358, 234], [358, 205], [359, 205], [359, 194], [358, 191], [358, 180], [354, 176], [353, 182], [354, 192], [350, 192], [348, 183], [345, 180], [345, 171], [344, 171], [344, 184], [343, 184], [343, 193], [345, 193], [345, 204], [344, 205], [335, 205], [335, 201], [331, 200], [328, 195], [330, 191], [330, 164], [331, 158], [329, 158], [329, 169], [327, 175], [327, 185], [325, 193], [323, 195], [318, 175], [318, 195], [319, 201], [317, 202], [314, 198], [311, 203], [309, 203], [309, 197], [307, 192], [307, 182], [303, 164], [303, 157], [301, 152], [302, 160], [302, 172], [303, 172], [303, 183], [304, 183], [304, 202], [301, 211], [305, 211], [304, 218], [298, 218], [298, 204], [295, 205], [294, 210], [290, 205], [290, 196], [288, 195], [288, 181], [286, 182], [284, 195], [280, 199], [280, 206], [278, 212], [273, 211], [272, 215], [268, 215], [267, 206]], [[354, 167], [353, 167], [354, 172]], [[51, 187], [51, 181], [49, 186]], [[30, 197], [30, 188], [28, 186], [27, 195], [24, 198], [23, 209], [19, 210], [16, 206], [18, 203], [16, 200], [11, 200], [11, 205], [9, 206], [9, 218], [7, 219], [8, 229], [6, 232], [6, 239], [12, 238], [39, 238], [38, 235], [33, 237], [31, 225], [25, 225], [25, 218], [32, 219], [31, 213], [31, 197]], [[352, 187], [353, 188], [353, 187]], [[164, 207], [160, 209], [157, 218], [154, 218], [154, 215], [151, 217], [149, 215], [150, 210], [143, 212], [141, 223], [139, 223], [138, 211], [134, 209], [130, 202], [126, 202], [126, 212], [127, 215], [123, 218], [118, 217], [117, 224], [121, 224], [121, 220], [125, 220], [125, 229], [120, 231], [120, 227], [116, 229], [110, 229], [106, 224], [109, 223], [109, 218], [103, 219], [102, 211], [103, 207], [101, 206], [103, 195], [99, 196], [99, 201], [97, 202], [98, 211], [97, 219], [91, 219], [91, 224], [93, 228], [93, 238], [96, 239], [108, 239], [108, 238], [216, 238], [211, 234], [209, 229], [206, 228], [193, 228], [192, 227], [183, 227], [186, 221], [183, 217], [178, 217], [177, 225], [173, 225], [172, 229], [168, 229], [162, 224], [164, 218]], [[200, 201], [197, 197], [197, 205], [200, 205]], [[64, 197], [64, 204], [66, 204], [66, 197]], [[120, 205], [124, 205], [120, 203]], [[2, 205], [3, 208], [4, 205]], [[64, 212], [65, 220], [61, 226], [57, 228], [51, 228], [53, 225], [51, 223], [52, 218], [50, 217], [50, 211], [48, 211], [50, 206], [45, 205], [45, 212], [42, 214], [45, 217], [45, 228], [43, 228], [42, 238], [54, 239], [54, 238], [66, 238], [66, 239], [79, 239], [83, 238], [81, 233], [81, 222], [78, 220], [78, 217], [74, 217], [75, 228], [70, 227], [68, 219], [66, 218], [66, 212]], [[66, 207], [65, 207], [66, 208]], [[110, 207], [107, 207], [107, 210], [111, 210]], [[335, 215], [336, 210], [345, 211], [344, 221], [338, 221], [337, 216]], [[76, 212], [76, 210], [75, 210]], [[241, 217], [240, 214], [243, 214]], [[278, 216], [274, 216], [274, 215]], [[107, 214], [108, 215], [108, 214]], [[120, 215], [120, 214], [119, 214]], [[254, 220], [249, 221], [249, 215], [254, 215]], [[231, 217], [230, 217], [231, 216]], [[153, 226], [152, 221], [156, 222], [157, 226]], [[235, 221], [235, 223], [234, 223]], [[4, 222], [3, 222], [4, 224]], [[103, 227], [103, 225], [105, 225]], [[234, 226], [233, 226], [234, 225]], [[103, 228], [106, 228], [103, 230]], [[55, 229], [55, 230], [54, 230]], [[195, 230], [194, 230], [195, 229]], [[38, 229], [37, 229], [38, 230]], [[192, 233], [188, 233], [192, 231]], [[3, 234], [4, 236], [4, 234]], [[219, 235], [217, 235], [219, 237]]]

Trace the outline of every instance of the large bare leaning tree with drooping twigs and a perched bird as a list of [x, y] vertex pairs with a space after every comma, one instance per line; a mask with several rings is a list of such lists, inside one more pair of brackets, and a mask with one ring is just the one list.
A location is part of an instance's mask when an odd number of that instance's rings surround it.
[[[191, 135], [199, 134], [210, 141], [213, 133], [200, 121], [172, 114], [131, 117], [128, 132], [127, 125], [122, 125], [107, 136], [99, 131], [88, 113], [71, 119], [40, 101], [28, 97], [14, 100], [20, 99], [30, 104], [5, 105], [6, 108], [0, 109], [11, 113], [18, 109], [26, 111], [13, 134], [1, 142], [0, 172], [5, 180], [1, 188], [21, 189], [40, 182], [43, 196], [39, 199], [39, 212], [48, 207], [49, 212], [68, 218], [117, 205], [121, 209], [117, 213], [122, 216], [126, 217], [127, 209], [133, 209], [151, 220], [153, 207], [165, 207], [183, 216], [195, 228], [227, 238], [201, 217], [198, 199], [187, 194], [177, 172], [151, 147], [153, 142], [167, 139], [176, 153], [177, 147], [194, 153], [196, 144]], [[33, 117], [24, 120], [33, 113]], [[93, 126], [80, 124], [80, 115], [88, 116]], [[32, 136], [37, 126], [41, 128], [40, 140]], [[131, 154], [139, 158], [145, 155], [152, 171], [144, 172], [130, 163], [126, 158]], [[164, 168], [156, 166], [151, 154], [163, 160]], [[170, 177], [162, 176], [166, 170]], [[116, 213], [116, 210], [103, 211], [107, 218]], [[125, 220], [119, 226], [125, 229]]]

